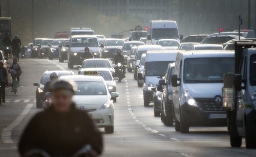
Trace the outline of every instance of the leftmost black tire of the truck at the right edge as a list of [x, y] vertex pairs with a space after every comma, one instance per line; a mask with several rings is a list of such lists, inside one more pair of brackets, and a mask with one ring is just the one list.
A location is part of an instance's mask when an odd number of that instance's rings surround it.
[[236, 126], [233, 126], [233, 125], [230, 126], [229, 136], [230, 136], [231, 147], [241, 147], [242, 137], [239, 136], [238, 129]]

